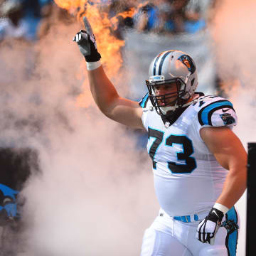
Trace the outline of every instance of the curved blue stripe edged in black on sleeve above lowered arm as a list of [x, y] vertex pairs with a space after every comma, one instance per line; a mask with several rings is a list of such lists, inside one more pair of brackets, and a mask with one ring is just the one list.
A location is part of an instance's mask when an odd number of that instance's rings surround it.
[[212, 125], [210, 120], [211, 114], [213, 114], [214, 110], [219, 110], [224, 107], [230, 107], [233, 109], [233, 104], [228, 100], [220, 100], [218, 102], [213, 102], [206, 107], [203, 107], [203, 109], [198, 112], [198, 120], [200, 124]]

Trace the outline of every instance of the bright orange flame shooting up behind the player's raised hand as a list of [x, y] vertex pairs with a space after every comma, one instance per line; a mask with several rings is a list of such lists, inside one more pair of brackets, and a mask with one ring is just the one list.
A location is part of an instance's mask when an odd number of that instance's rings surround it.
[[[104, 11], [101, 0], [87, 1], [87, 0], [54, 0], [60, 8], [66, 9], [70, 14], [75, 14], [78, 21], [82, 23], [82, 16], [86, 16], [87, 20], [92, 26], [93, 33], [95, 34], [97, 49], [102, 56], [102, 65], [105, 68], [105, 72], [111, 78], [114, 78], [119, 72], [123, 60], [122, 60], [122, 47], [124, 41], [116, 38], [113, 31], [117, 29], [117, 17], [109, 18], [107, 11]], [[106, 5], [106, 4], [105, 4]], [[135, 9], [132, 8], [129, 11], [124, 11], [117, 16], [122, 18], [132, 17]], [[76, 32], [76, 31], [75, 31]], [[91, 101], [91, 96], [87, 86], [87, 82], [84, 82], [85, 91], [78, 97], [77, 104], [80, 107], [87, 107], [87, 103]], [[87, 91], [86, 91], [87, 90]], [[90, 97], [90, 100], [89, 100]]]

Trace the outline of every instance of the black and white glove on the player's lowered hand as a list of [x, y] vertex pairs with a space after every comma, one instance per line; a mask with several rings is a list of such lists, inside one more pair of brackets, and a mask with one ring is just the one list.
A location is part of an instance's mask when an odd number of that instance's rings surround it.
[[212, 208], [206, 218], [198, 225], [196, 238], [201, 242], [214, 245], [215, 235], [220, 228], [224, 213], [221, 210]]

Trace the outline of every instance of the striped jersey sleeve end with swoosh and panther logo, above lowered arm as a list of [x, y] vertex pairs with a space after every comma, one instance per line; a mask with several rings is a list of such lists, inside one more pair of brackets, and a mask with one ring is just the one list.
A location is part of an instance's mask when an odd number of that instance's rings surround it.
[[217, 100], [202, 107], [198, 112], [201, 127], [233, 127], [238, 122], [233, 104], [229, 100]]

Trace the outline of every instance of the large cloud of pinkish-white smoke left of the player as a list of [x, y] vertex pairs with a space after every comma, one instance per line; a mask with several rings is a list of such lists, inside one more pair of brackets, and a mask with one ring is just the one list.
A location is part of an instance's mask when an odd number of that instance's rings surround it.
[[158, 210], [151, 163], [134, 132], [104, 117], [82, 85], [79, 30], [57, 23], [36, 45], [0, 49], [1, 146], [35, 149], [41, 170], [21, 192], [21, 255], [138, 255]]

